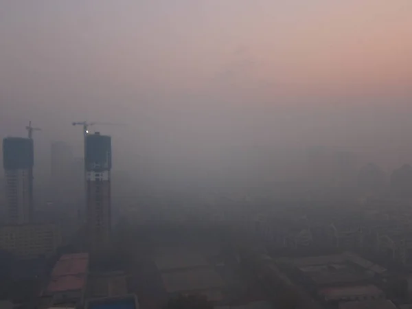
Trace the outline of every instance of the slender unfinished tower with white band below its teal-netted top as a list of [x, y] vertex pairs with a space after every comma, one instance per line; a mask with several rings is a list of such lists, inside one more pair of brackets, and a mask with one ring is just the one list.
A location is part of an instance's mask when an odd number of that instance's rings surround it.
[[111, 235], [111, 137], [87, 135], [85, 147], [89, 244], [100, 249]]

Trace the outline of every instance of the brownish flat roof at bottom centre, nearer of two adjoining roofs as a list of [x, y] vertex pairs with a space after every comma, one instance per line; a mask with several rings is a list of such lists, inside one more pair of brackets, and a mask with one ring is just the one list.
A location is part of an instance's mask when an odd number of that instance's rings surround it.
[[196, 268], [161, 275], [168, 293], [222, 288], [224, 282], [213, 268]]

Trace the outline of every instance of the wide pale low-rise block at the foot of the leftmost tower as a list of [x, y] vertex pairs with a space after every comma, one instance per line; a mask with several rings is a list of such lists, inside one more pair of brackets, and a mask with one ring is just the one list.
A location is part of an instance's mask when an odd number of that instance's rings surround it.
[[54, 224], [6, 225], [0, 228], [0, 249], [17, 258], [37, 258], [56, 252], [62, 240]]

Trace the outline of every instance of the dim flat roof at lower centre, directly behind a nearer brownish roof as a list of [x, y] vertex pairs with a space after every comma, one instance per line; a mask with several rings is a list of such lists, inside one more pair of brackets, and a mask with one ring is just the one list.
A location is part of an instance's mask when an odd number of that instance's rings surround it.
[[209, 266], [202, 255], [192, 251], [166, 251], [155, 258], [159, 271], [170, 271], [181, 268]]

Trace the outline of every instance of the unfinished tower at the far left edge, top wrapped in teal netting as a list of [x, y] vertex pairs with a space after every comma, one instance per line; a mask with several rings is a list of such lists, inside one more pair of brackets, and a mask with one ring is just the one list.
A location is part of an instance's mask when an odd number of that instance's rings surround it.
[[9, 224], [30, 222], [33, 214], [33, 140], [21, 137], [3, 139], [3, 168]]

